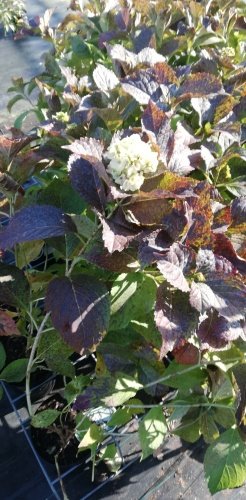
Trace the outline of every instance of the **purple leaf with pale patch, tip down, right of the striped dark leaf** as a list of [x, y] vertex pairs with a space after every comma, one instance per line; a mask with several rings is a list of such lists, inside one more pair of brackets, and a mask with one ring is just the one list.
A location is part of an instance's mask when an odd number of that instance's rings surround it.
[[186, 294], [179, 290], [171, 292], [165, 285], [161, 285], [157, 291], [155, 323], [163, 339], [163, 357], [177, 346], [181, 339], [195, 331], [198, 315], [190, 307]]

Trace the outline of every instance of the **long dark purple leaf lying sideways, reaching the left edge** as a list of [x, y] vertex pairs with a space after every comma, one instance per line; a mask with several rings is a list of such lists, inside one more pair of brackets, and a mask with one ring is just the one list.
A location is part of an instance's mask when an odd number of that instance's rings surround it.
[[72, 219], [51, 205], [33, 205], [22, 208], [0, 233], [0, 248], [12, 248], [16, 243], [42, 240], [76, 232]]

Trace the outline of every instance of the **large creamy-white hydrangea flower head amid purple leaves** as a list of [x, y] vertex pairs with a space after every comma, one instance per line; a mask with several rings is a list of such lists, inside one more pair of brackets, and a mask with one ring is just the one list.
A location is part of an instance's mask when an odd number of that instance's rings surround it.
[[123, 191], [140, 189], [145, 174], [155, 173], [158, 167], [158, 154], [138, 134], [112, 142], [106, 157], [108, 173]]

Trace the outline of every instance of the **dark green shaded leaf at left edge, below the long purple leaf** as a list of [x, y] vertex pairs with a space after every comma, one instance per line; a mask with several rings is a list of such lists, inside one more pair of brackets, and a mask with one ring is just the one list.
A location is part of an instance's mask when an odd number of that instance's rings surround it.
[[29, 302], [30, 288], [23, 271], [15, 266], [0, 263], [0, 301], [10, 306]]

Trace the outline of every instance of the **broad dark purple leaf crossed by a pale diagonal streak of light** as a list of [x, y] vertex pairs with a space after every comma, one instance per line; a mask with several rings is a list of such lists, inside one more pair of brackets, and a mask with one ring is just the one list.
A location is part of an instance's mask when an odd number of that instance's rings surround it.
[[51, 281], [46, 299], [54, 327], [78, 353], [93, 349], [109, 324], [109, 297], [105, 285], [91, 276]]

